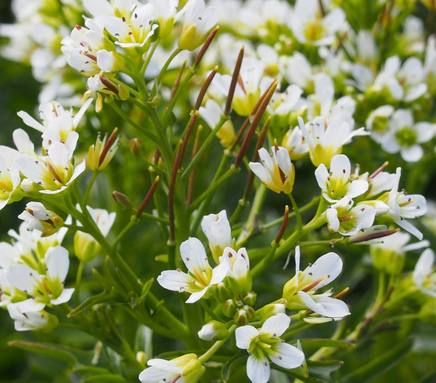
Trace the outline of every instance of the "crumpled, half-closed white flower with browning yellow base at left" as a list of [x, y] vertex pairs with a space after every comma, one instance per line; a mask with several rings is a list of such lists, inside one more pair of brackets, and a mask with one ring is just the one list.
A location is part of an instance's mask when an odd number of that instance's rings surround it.
[[53, 211], [47, 210], [40, 202], [27, 203], [26, 209], [18, 218], [27, 223], [27, 230], [41, 231], [42, 237], [48, 237], [64, 226], [64, 220]]

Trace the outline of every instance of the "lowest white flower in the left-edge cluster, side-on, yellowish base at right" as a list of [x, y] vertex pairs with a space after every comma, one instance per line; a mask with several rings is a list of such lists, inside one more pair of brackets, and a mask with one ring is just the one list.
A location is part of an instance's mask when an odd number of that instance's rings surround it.
[[7, 311], [15, 321], [16, 331], [38, 330], [48, 325], [48, 313], [43, 308], [43, 303], [29, 307], [27, 301], [7, 305]]

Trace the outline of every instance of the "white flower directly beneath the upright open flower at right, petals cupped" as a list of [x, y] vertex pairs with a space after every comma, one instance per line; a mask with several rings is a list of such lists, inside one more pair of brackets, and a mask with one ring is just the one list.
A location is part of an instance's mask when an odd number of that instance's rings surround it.
[[330, 232], [342, 235], [356, 235], [362, 229], [374, 224], [375, 208], [363, 203], [353, 207], [348, 197], [331, 205], [325, 212]]

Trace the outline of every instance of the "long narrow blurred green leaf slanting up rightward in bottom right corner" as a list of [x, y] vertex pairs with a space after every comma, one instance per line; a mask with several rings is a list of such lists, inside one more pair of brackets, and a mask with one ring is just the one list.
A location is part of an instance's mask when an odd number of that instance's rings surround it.
[[412, 339], [406, 339], [388, 352], [385, 352], [381, 356], [371, 360], [371, 362], [344, 376], [344, 378], [341, 379], [341, 383], [366, 382], [369, 378], [373, 378], [386, 369], [390, 369], [395, 365], [395, 363], [398, 363], [403, 356], [405, 356], [412, 347], [412, 344]]

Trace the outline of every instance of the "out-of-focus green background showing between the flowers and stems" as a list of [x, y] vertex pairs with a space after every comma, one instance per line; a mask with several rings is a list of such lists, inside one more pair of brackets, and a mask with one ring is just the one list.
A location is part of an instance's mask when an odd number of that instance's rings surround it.
[[[10, 13], [9, 0], [0, 2], [0, 22], [11, 22], [13, 17]], [[418, 7], [418, 14], [426, 14], [423, 7]], [[31, 70], [28, 66], [16, 62], [6, 61], [0, 58], [0, 144], [12, 146], [12, 132], [17, 128], [24, 128], [34, 142], [39, 142], [39, 132], [25, 127], [20, 118], [17, 117], [17, 112], [25, 110], [31, 115], [35, 115], [37, 108], [37, 95], [39, 93], [40, 84], [34, 80], [31, 75]], [[99, 115], [101, 121], [101, 130], [110, 132], [113, 127], [120, 124], [119, 119], [112, 115], [111, 112], [104, 108]], [[181, 123], [183, 125], [183, 122]], [[238, 124], [235, 124], [238, 126]], [[87, 129], [83, 128], [83, 136], [79, 141], [78, 154], [85, 153], [89, 145], [92, 144], [97, 129], [92, 126], [89, 120], [86, 123]], [[99, 176], [91, 195], [91, 206], [102, 207], [109, 211], [117, 212], [117, 220], [113, 233], [118, 233], [129, 220], [129, 214], [121, 210], [112, 200], [110, 193], [112, 190], [122, 188], [123, 193], [126, 193], [132, 198], [134, 205], [138, 205], [140, 200], [145, 195], [150, 186], [150, 176], [147, 171], [147, 165], [144, 161], [136, 159], [129, 152], [128, 141], [133, 138], [134, 132], [127, 127], [123, 127], [120, 131], [123, 138], [122, 144], [115, 159], [110, 165], [110, 172], [106, 176]], [[379, 146], [368, 138], [357, 139], [352, 146], [346, 149], [345, 154], [349, 155], [354, 163], [358, 162], [363, 170], [375, 169], [379, 164], [389, 159], [390, 165], [388, 170], [395, 171], [396, 166], [403, 166], [402, 186], [408, 186], [412, 193], [423, 193], [426, 197], [433, 199], [435, 197], [436, 179], [435, 179], [435, 156], [433, 148], [427, 148], [430, 155], [426, 157], [418, 166], [407, 165], [399, 156], [386, 157], [385, 153], [381, 152]], [[216, 169], [218, 160], [221, 158], [221, 148], [215, 142], [212, 153], [209, 153], [208, 159], [204, 159], [201, 163], [202, 169], [199, 170], [197, 186], [204, 187], [213, 176], [213, 169]], [[295, 197], [300, 205], [307, 203], [315, 193], [318, 193], [318, 186], [313, 176], [313, 166], [309, 161], [300, 162], [297, 164], [297, 178], [295, 186]], [[218, 193], [210, 206], [209, 213], [218, 213], [219, 210], [227, 209], [232, 212], [238, 198], [242, 196], [242, 190], [245, 186], [246, 172], [243, 171], [238, 177], [229, 180], [225, 185], [225, 190], [231, 192]], [[84, 190], [90, 174], [85, 173], [80, 178], [80, 183]], [[26, 200], [19, 203], [8, 205], [0, 212], [0, 240], [7, 240], [7, 230], [11, 227], [18, 228], [20, 220], [17, 215], [23, 210]], [[269, 221], [279, 217], [283, 213], [283, 207], [289, 203], [284, 195], [276, 195], [269, 193], [269, 198], [265, 209], [262, 211], [261, 220]], [[149, 209], [150, 210], [150, 209]], [[248, 212], [245, 212], [247, 214]], [[305, 218], [309, 218], [309, 214]], [[422, 227], [421, 227], [422, 228]], [[429, 239], [435, 247], [435, 233], [425, 230], [427, 239]], [[272, 238], [276, 235], [276, 231], [270, 230], [262, 237], [254, 238], [249, 242], [248, 247], [264, 247], [268, 246]], [[327, 230], [321, 230], [319, 238], [329, 238]], [[201, 237], [204, 240], [204, 237]], [[306, 240], [312, 238], [308, 237]], [[142, 278], [143, 281], [150, 277], [156, 277], [164, 265], [154, 261], [154, 257], [163, 254], [166, 251], [166, 240], [160, 235], [160, 230], [153, 222], [147, 222], [137, 225], [129, 232], [128, 238], [123, 241], [122, 254], [126, 261], [130, 264], [133, 270]], [[67, 234], [64, 245], [72, 253], [72, 235]], [[309, 261], [313, 261], [320, 255], [330, 251], [328, 247], [308, 247], [303, 250], [302, 266]], [[372, 278], [372, 268], [367, 254], [366, 247], [336, 249], [338, 254], [344, 259], [344, 271], [341, 277], [337, 279], [335, 285], [337, 291], [349, 286], [350, 293], [345, 297], [345, 301], [351, 305], [352, 315], [349, 319], [349, 328], [353, 328], [358, 319], [363, 315], [365, 308], [370, 305], [374, 294], [375, 281]], [[406, 269], [411, 270], [418, 258], [420, 252], [411, 253], [406, 260]], [[270, 302], [281, 296], [281, 287], [293, 275], [293, 261], [289, 266], [290, 271], [283, 271], [284, 260], [276, 262], [266, 275], [263, 275], [255, 282], [255, 289], [259, 294], [256, 307], [260, 307], [263, 303]], [[99, 260], [95, 260], [93, 267], [99, 267]], [[74, 281], [75, 271], [77, 269], [77, 260], [72, 258], [68, 281]], [[67, 282], [68, 282], [67, 281]], [[84, 297], [86, 298], [86, 290], [99, 292], [99, 287], [95, 284], [90, 268], [85, 270]], [[153, 292], [158, 298], [165, 298], [166, 305], [172, 309], [176, 315], [181, 317], [180, 305], [175, 294], [168, 291], [163, 291], [157, 284], [153, 285]], [[133, 344], [134, 333], [137, 323], [130, 317], [126, 316], [122, 308], [114, 305], [114, 315], [122, 324], [121, 327], [126, 329], [126, 337]], [[299, 337], [330, 337], [334, 332], [336, 324], [325, 324], [314, 326], [311, 329], [302, 332]], [[386, 352], [392, 349], [401, 340], [408, 336], [413, 336], [415, 339], [414, 346], [411, 352], [403, 358], [398, 364], [391, 365], [389, 368], [378, 375], [371, 382], [436, 382], [434, 372], [436, 371], [436, 328], [433, 324], [424, 324], [421, 322], [404, 322], [401, 328], [396, 331], [384, 332], [374, 336], [371, 341], [366, 342], [362, 347], [354, 350], [354, 352], [340, 352], [335, 358], [344, 360], [345, 364], [340, 370], [340, 375], [344, 376], [351, 370], [358, 368], [364, 363], [371, 360], [376, 353]], [[59, 328], [52, 334], [42, 334], [38, 332], [17, 333], [13, 329], [13, 322], [10, 320], [7, 312], [0, 310], [0, 382], [27, 382], [27, 383], [43, 383], [43, 382], [79, 382], [77, 376], [65, 371], [65, 365], [61, 362], [54, 361], [42, 356], [35, 356], [30, 353], [21, 352], [15, 348], [7, 346], [7, 342], [16, 339], [27, 339], [44, 342], [57, 342], [68, 346], [77, 347], [84, 350], [92, 350], [95, 346], [95, 341], [92, 337], [73, 329]], [[156, 337], [154, 341], [154, 355], [163, 351], [171, 351], [180, 349], [181, 344], [174, 341], [167, 341], [160, 337]], [[110, 358], [109, 358], [110, 359]], [[109, 362], [108, 362], [109, 363]], [[116, 368], [116, 367], [115, 367]], [[339, 373], [338, 373], [339, 374]], [[238, 373], [238, 383], [246, 381], [245, 372]], [[339, 376], [339, 375], [338, 375]]]

